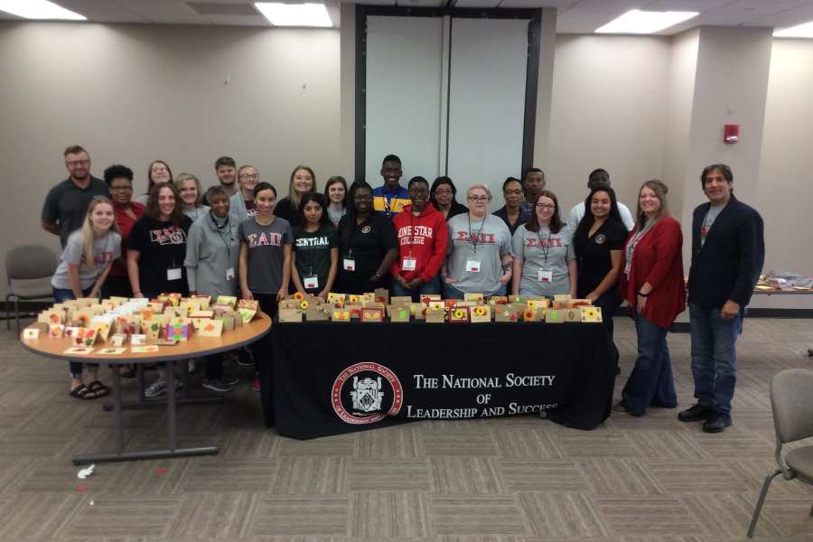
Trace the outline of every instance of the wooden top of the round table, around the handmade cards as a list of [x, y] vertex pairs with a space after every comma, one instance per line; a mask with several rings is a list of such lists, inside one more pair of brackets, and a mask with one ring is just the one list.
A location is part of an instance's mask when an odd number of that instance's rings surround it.
[[98, 350], [112, 348], [109, 342], [97, 341], [93, 345], [91, 354], [66, 354], [65, 350], [74, 346], [70, 338], [50, 339], [48, 334], [40, 333], [38, 339], [23, 339], [20, 334], [20, 341], [26, 350], [54, 360], [81, 361], [94, 363], [152, 363], [164, 360], [186, 360], [189, 358], [199, 358], [210, 354], [217, 354], [228, 350], [234, 350], [240, 346], [257, 341], [271, 329], [271, 319], [266, 313], [259, 312], [249, 323], [244, 323], [233, 331], [223, 332], [220, 337], [201, 337], [192, 334], [188, 341], [179, 341], [173, 346], [158, 346], [157, 352], [133, 353], [130, 351], [131, 344], [126, 342], [121, 348], [126, 347], [126, 351], [119, 355], [98, 354]]

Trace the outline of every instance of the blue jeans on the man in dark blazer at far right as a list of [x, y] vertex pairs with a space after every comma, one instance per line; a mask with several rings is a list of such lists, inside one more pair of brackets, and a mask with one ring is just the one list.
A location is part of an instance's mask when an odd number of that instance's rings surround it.
[[703, 406], [731, 414], [731, 399], [737, 384], [737, 334], [743, 329], [743, 315], [720, 316], [720, 307], [701, 309], [689, 305], [692, 330], [692, 375], [695, 397]]

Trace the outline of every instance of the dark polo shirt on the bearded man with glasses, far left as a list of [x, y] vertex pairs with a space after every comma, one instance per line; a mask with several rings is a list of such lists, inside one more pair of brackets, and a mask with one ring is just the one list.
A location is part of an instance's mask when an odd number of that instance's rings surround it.
[[42, 206], [42, 221], [59, 224], [62, 248], [68, 242], [70, 232], [82, 227], [90, 201], [96, 196], [109, 198], [110, 191], [106, 182], [92, 175], [88, 188], [79, 188], [73, 181], [66, 179], [48, 192]]

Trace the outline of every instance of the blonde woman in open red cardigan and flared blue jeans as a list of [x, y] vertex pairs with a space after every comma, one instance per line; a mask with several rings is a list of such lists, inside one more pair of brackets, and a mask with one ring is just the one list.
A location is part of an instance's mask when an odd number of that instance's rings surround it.
[[667, 332], [686, 309], [683, 234], [668, 215], [667, 186], [647, 181], [638, 193], [635, 229], [624, 249], [619, 293], [630, 304], [638, 332], [638, 360], [621, 392], [616, 414], [643, 416], [647, 406], [677, 406]]

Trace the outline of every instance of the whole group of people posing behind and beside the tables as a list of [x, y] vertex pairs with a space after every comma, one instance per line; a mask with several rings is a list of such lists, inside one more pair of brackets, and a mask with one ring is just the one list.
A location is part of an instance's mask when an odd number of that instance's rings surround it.
[[[602, 308], [611, 339], [612, 314], [626, 301], [639, 355], [612, 411], [642, 416], [649, 406], [677, 406], [667, 332], [686, 308], [687, 286], [680, 224], [669, 214], [663, 182], [641, 185], [633, 215], [617, 201], [609, 173], [594, 170], [587, 197], [565, 215], [546, 190], [545, 173], [531, 168], [522, 180], [503, 182], [505, 205], [490, 213], [488, 185], [469, 186], [466, 205], [449, 177], [430, 184], [415, 176], [405, 187], [394, 154], [384, 158], [377, 188], [334, 176], [318, 192], [313, 169], [299, 165], [281, 199], [256, 167], [238, 168], [228, 156], [215, 162], [219, 182], [205, 193], [194, 175], [173, 177], [168, 164], [155, 161], [148, 192], [135, 200], [126, 166], [112, 165], [96, 179], [79, 146], [66, 149], [65, 164], [70, 176], [49, 192], [42, 211], [42, 227], [63, 247], [52, 280], [58, 301], [102, 292], [238, 295], [274, 315], [292, 292], [326, 298], [385, 287], [415, 300], [570, 294]], [[703, 171], [709, 202], [695, 211], [692, 229], [688, 299], [698, 401], [678, 417], [704, 420], [709, 432], [731, 425], [734, 341], [764, 258], [762, 219], [734, 198], [733, 182], [724, 164]], [[206, 360], [205, 387], [234, 386], [222, 361]], [[97, 370], [89, 367], [86, 386], [81, 365], [71, 364], [71, 395], [104, 394]], [[147, 395], [165, 386], [161, 376]]]

